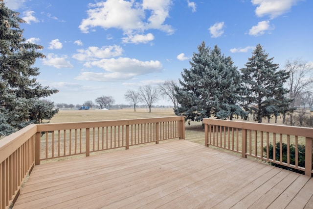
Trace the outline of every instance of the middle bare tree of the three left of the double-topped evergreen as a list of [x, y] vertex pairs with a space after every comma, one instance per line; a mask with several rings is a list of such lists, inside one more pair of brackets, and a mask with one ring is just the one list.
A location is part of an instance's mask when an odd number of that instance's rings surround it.
[[154, 104], [159, 97], [158, 88], [152, 87], [151, 85], [141, 86], [139, 88], [140, 100], [145, 102], [149, 107], [149, 112], [151, 112], [151, 106]]

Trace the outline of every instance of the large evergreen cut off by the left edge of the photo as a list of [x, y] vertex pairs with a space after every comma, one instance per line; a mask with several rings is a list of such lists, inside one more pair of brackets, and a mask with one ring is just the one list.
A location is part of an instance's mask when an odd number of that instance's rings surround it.
[[37, 82], [39, 68], [32, 67], [42, 46], [25, 43], [20, 24], [25, 23], [18, 12], [7, 8], [0, 0], [0, 131], [11, 133], [31, 123], [51, 119], [58, 109], [53, 103], [40, 100], [57, 93]]

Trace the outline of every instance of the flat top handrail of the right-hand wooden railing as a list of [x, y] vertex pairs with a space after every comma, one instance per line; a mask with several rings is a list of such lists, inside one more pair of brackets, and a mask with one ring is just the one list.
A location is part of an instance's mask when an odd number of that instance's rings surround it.
[[313, 137], [313, 129], [306, 127], [295, 127], [295, 126], [286, 126], [278, 124], [263, 124], [263, 123], [252, 123], [246, 121], [227, 121], [211, 118], [203, 118], [203, 124], [214, 124], [217, 126], [227, 126], [237, 129], [248, 129], [255, 131], [267, 131], [275, 132], [281, 134], [295, 135], [296, 132], [301, 132], [301, 134], [296, 134], [304, 137]]

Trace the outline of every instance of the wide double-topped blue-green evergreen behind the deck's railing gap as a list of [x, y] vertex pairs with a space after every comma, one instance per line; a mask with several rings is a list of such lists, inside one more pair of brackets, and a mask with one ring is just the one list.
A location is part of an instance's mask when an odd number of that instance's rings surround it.
[[202, 121], [213, 114], [219, 119], [232, 119], [233, 114], [243, 115], [237, 104], [240, 91], [240, 75], [230, 57], [221, 54], [215, 46], [210, 51], [202, 42], [199, 53], [194, 53], [190, 70], [183, 69], [176, 87], [179, 106], [176, 115], [186, 120]]

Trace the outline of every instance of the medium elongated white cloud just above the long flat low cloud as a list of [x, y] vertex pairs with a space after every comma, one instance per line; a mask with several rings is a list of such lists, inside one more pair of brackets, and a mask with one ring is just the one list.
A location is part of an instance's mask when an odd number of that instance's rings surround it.
[[114, 56], [120, 56], [123, 53], [123, 49], [120, 46], [112, 45], [112, 46], [103, 46], [101, 48], [98, 47], [89, 47], [86, 50], [80, 49], [72, 57], [80, 60], [80, 61], [89, 61], [89, 60], [97, 60], [103, 58], [111, 58]]

